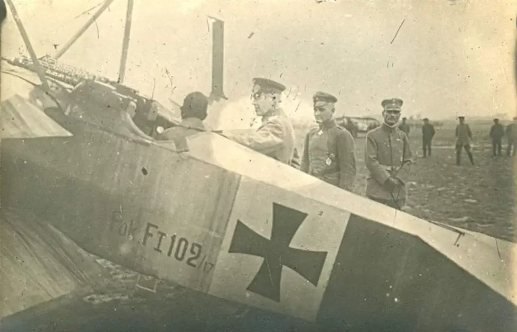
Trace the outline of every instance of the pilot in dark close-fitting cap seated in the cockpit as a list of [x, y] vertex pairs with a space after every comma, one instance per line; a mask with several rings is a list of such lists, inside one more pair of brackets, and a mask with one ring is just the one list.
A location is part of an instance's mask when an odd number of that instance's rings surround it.
[[181, 123], [158, 134], [157, 140], [174, 140], [188, 137], [205, 130], [203, 120], [208, 115], [208, 98], [201, 92], [188, 94], [181, 110]]

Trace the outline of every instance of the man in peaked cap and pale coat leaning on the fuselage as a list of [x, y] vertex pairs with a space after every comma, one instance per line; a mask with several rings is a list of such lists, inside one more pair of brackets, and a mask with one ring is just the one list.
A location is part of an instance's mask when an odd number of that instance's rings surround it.
[[285, 86], [264, 78], [255, 78], [253, 83], [253, 105], [256, 115], [262, 116], [262, 125], [252, 133], [223, 134], [257, 152], [291, 164], [295, 149], [294, 128], [279, 105]]

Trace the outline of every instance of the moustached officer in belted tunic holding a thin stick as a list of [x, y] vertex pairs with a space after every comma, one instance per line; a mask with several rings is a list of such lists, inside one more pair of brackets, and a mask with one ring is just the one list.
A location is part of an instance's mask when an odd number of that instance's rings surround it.
[[366, 134], [364, 160], [370, 172], [366, 195], [371, 200], [401, 209], [406, 204], [406, 177], [412, 153], [405, 132], [397, 127], [403, 101], [386, 99], [384, 123]]

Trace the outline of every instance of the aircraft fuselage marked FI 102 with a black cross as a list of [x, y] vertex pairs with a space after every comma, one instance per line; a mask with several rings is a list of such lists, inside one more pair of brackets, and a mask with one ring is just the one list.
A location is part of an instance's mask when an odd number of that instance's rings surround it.
[[[216, 133], [183, 142], [186, 155], [123, 128], [3, 139], [3, 218], [38, 216], [38, 229], [144, 275], [318, 324], [515, 326], [514, 244], [372, 202]], [[9, 262], [18, 273], [2, 284], [25, 289], [24, 263]]]

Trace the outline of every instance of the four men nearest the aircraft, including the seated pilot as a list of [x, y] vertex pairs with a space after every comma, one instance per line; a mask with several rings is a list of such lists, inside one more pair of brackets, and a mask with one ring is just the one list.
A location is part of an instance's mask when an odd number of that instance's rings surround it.
[[[274, 158], [331, 185], [352, 191], [356, 177], [355, 140], [336, 124], [338, 99], [325, 92], [313, 96], [314, 118], [318, 124], [305, 137], [301, 161], [298, 160], [295, 131], [291, 119], [280, 107], [285, 86], [264, 78], [253, 79], [252, 102], [262, 124], [253, 132], [222, 133], [225, 137]], [[409, 141], [397, 126], [403, 101], [382, 101], [384, 123], [366, 136], [367, 197], [376, 202], [402, 208], [406, 202], [405, 176], [412, 163]], [[205, 130], [208, 100], [199, 92], [187, 95], [181, 106], [182, 122], [161, 132], [159, 140], [177, 140]]]

